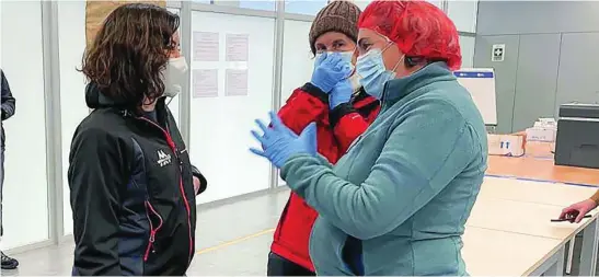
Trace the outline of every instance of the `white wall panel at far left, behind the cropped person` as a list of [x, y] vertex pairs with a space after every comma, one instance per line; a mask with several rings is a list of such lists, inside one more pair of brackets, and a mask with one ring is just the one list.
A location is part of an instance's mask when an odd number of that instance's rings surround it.
[[10, 249], [48, 239], [41, 3], [3, 1], [0, 21], [2, 69], [16, 99], [16, 114], [3, 122], [2, 244]]

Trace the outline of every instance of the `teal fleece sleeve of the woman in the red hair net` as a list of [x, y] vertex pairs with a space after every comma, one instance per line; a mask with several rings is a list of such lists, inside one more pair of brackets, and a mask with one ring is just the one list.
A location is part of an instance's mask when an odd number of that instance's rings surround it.
[[347, 234], [367, 240], [388, 233], [433, 199], [481, 151], [470, 125], [449, 104], [423, 103], [399, 120], [371, 168], [354, 163], [355, 170], [369, 172], [361, 184], [336, 176], [306, 154], [291, 158], [281, 176]]

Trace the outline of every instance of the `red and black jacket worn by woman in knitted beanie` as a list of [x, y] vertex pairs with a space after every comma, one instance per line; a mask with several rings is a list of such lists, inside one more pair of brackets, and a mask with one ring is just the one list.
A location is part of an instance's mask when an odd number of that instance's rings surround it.
[[[316, 123], [319, 153], [331, 163], [347, 151], [354, 139], [375, 120], [379, 101], [364, 90], [350, 103], [329, 108], [329, 95], [311, 83], [293, 91], [278, 115], [283, 123], [300, 134], [308, 124]], [[308, 242], [318, 212], [291, 193], [280, 216], [270, 251], [297, 265], [314, 272]]]

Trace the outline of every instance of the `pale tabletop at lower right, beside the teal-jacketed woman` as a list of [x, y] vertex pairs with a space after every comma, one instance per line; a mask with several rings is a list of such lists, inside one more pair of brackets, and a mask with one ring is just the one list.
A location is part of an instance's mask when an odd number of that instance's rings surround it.
[[[594, 192], [596, 189], [589, 187], [485, 177], [464, 234], [463, 254], [466, 266], [472, 267], [470, 274], [560, 276], [566, 243], [583, 232], [580, 275], [594, 275], [599, 230], [597, 215], [592, 212], [592, 218], [579, 224], [550, 221], [560, 216], [563, 207], [588, 198]], [[492, 265], [497, 261], [506, 262]]]

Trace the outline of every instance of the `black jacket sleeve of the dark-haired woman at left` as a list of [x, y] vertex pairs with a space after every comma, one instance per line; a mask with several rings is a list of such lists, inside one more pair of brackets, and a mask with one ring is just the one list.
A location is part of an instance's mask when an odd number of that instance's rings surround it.
[[77, 131], [68, 180], [73, 216], [73, 275], [122, 276], [118, 259], [118, 187], [129, 178], [117, 139], [101, 129]]

